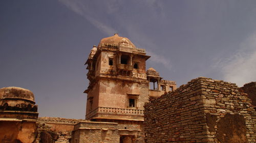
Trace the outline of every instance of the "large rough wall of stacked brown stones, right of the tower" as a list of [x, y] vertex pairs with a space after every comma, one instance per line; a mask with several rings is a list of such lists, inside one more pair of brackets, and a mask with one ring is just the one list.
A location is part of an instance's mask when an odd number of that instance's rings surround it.
[[146, 142], [255, 142], [255, 111], [234, 83], [199, 77], [145, 104]]

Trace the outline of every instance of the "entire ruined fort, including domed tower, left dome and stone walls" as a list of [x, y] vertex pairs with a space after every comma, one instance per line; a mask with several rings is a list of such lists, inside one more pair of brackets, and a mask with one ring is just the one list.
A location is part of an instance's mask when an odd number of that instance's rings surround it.
[[199, 77], [177, 88], [146, 70], [149, 58], [118, 34], [93, 46], [84, 120], [38, 118], [31, 91], [0, 89], [0, 142], [256, 142], [256, 82]]

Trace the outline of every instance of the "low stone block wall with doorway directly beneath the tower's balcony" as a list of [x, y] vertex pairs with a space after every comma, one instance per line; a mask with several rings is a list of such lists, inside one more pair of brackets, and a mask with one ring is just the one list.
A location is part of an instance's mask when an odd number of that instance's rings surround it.
[[138, 125], [132, 127], [132, 125], [91, 121], [79, 122], [75, 125], [72, 142], [119, 143], [120, 139], [127, 143], [144, 142], [143, 132]]

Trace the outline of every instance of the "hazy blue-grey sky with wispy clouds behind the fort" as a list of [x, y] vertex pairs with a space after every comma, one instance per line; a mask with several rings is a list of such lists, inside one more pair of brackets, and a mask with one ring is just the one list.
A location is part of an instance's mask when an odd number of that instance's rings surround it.
[[256, 81], [256, 1], [0, 1], [0, 88], [32, 91], [39, 117], [84, 119], [86, 62], [102, 38], [129, 38], [179, 87], [199, 76]]

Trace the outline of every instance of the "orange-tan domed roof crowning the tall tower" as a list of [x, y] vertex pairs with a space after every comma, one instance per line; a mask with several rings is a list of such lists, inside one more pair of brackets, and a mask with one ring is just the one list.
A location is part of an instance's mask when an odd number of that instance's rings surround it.
[[126, 37], [120, 37], [117, 33], [114, 36], [106, 37], [100, 40], [99, 46], [102, 45], [124, 45], [132, 48], [136, 46]]

